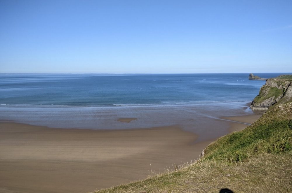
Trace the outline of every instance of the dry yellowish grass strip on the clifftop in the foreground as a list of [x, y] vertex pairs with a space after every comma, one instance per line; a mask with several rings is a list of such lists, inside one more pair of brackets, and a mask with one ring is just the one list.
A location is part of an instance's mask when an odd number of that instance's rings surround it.
[[110, 192], [291, 192], [292, 154], [262, 154], [246, 162], [228, 165], [198, 161], [185, 168], [146, 180], [100, 190]]

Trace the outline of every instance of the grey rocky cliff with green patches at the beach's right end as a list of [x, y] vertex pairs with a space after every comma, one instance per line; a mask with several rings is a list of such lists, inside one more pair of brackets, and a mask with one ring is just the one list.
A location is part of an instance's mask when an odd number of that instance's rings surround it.
[[268, 79], [251, 103], [253, 110], [266, 110], [275, 103], [292, 102], [292, 80]]

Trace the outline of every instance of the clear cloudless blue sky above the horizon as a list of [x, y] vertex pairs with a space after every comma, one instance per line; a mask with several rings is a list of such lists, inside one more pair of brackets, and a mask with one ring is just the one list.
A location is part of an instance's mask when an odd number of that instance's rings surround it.
[[0, 73], [292, 72], [292, 1], [0, 0]]

